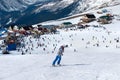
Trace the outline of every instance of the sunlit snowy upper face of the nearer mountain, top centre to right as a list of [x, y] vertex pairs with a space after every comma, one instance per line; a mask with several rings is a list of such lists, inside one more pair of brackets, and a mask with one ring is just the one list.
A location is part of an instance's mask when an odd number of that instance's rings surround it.
[[69, 15], [73, 15], [85, 10], [98, 9], [105, 4], [109, 6], [114, 4], [115, 2], [119, 2], [119, 1], [118, 0], [60, 0], [56, 2], [50, 2], [48, 4], [44, 4], [38, 7], [34, 12], [38, 13], [41, 10], [57, 11], [64, 9], [67, 6], [75, 3], [74, 6], [76, 6], [76, 8], [73, 9], [72, 12], [69, 14]]

